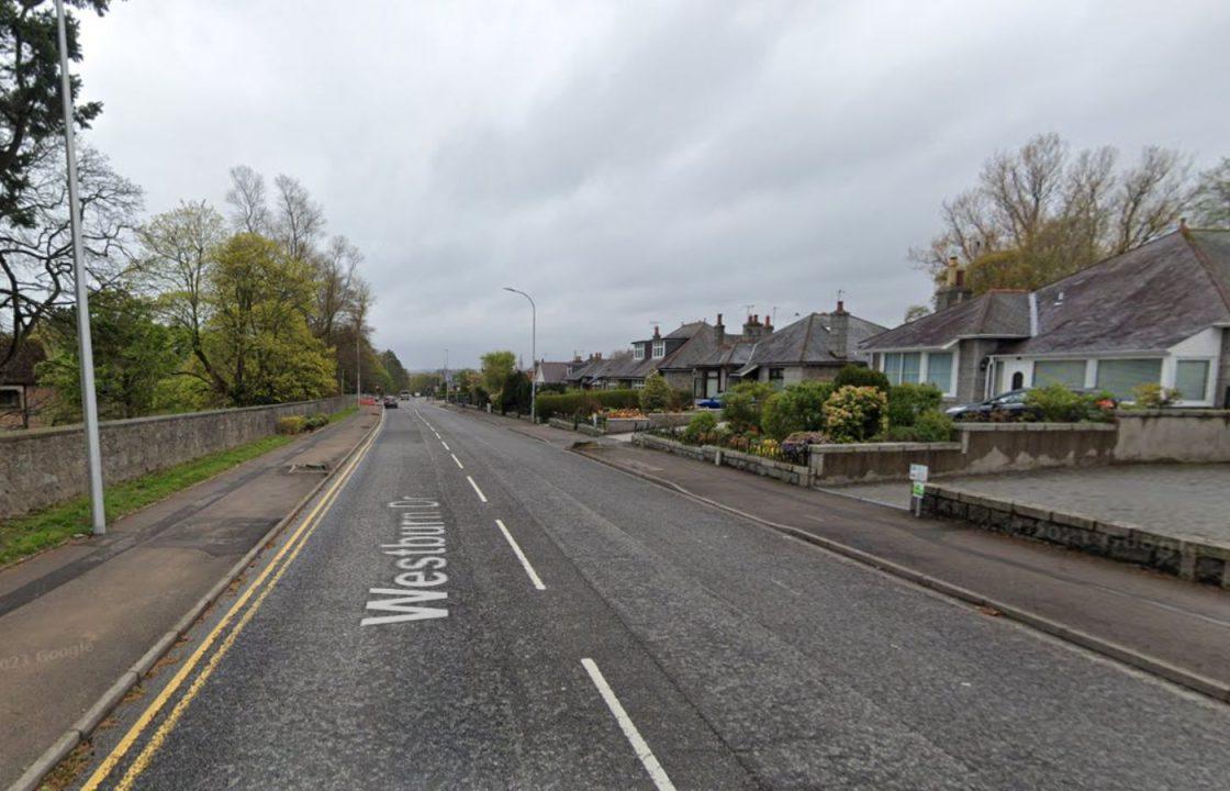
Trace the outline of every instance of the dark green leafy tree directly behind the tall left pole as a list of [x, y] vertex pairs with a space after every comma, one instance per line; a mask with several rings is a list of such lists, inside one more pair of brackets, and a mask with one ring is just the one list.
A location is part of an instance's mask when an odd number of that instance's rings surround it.
[[[95, 389], [103, 418], [153, 412], [155, 389], [178, 368], [186, 353], [182, 333], [157, 324], [156, 316], [150, 300], [129, 292], [108, 289], [90, 298]], [[55, 311], [41, 337], [50, 354], [38, 364], [38, 381], [60, 396], [52, 419], [76, 422], [81, 418], [76, 310]]]

